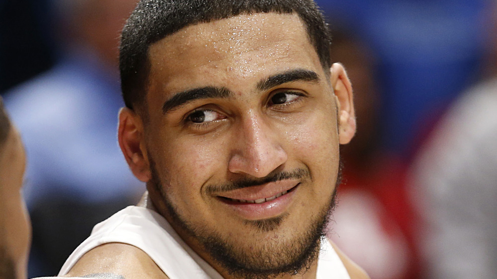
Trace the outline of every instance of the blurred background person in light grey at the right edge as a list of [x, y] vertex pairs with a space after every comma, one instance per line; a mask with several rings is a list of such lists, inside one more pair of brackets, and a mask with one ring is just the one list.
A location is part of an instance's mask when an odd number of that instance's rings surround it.
[[[411, 190], [425, 226], [423, 278], [497, 278], [497, 2], [483, 80], [450, 107], [419, 151]], [[490, 47], [491, 46], [491, 47]]]

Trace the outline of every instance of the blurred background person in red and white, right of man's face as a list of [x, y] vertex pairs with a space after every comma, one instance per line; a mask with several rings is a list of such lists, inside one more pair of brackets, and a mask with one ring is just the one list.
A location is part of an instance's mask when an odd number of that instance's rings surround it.
[[415, 220], [404, 192], [406, 166], [379, 145], [376, 57], [353, 37], [356, 32], [331, 34], [331, 59], [344, 65], [352, 81], [358, 129], [349, 145], [341, 146], [343, 184], [329, 237], [372, 279], [416, 278]]

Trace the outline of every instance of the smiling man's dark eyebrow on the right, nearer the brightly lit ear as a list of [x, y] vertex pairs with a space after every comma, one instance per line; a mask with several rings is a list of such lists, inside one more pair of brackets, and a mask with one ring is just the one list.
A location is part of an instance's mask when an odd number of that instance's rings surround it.
[[265, 91], [272, 87], [291, 81], [319, 82], [320, 78], [319, 75], [312, 70], [307, 70], [307, 69], [289, 70], [262, 79], [257, 83], [257, 89], [259, 89], [260, 91]]

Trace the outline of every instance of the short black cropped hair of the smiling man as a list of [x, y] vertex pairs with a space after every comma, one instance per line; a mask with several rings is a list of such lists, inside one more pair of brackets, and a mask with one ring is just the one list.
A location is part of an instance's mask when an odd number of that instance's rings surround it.
[[124, 26], [119, 48], [126, 106], [133, 109], [145, 102], [152, 44], [190, 25], [260, 12], [296, 13], [323, 68], [330, 68], [330, 33], [313, 0], [141, 0]]

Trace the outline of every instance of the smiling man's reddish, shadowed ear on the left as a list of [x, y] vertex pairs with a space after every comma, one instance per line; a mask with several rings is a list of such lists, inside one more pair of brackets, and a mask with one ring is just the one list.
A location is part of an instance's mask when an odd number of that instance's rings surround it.
[[124, 158], [128, 162], [133, 174], [139, 180], [148, 182], [151, 178], [151, 172], [145, 144], [143, 122], [129, 108], [122, 108], [119, 112], [117, 137]]

